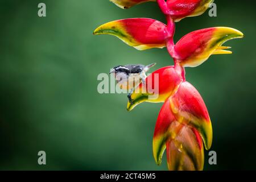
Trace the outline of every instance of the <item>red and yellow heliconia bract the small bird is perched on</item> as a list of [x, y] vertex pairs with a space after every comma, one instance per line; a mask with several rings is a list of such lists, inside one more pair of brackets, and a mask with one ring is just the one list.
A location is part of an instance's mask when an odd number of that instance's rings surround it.
[[[132, 110], [142, 102], [164, 102], [183, 81], [181, 71], [174, 66], [169, 66], [153, 72], [146, 78], [144, 84], [139, 84], [130, 94], [127, 110]], [[156, 98], [153, 96], [156, 96]]]

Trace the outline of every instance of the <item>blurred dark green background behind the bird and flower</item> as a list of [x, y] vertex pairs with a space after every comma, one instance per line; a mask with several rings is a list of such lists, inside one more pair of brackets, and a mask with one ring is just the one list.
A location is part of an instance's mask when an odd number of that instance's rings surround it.
[[[38, 17], [38, 3], [47, 17]], [[245, 38], [226, 43], [187, 80], [201, 93], [213, 125], [217, 165], [205, 170], [256, 169], [255, 1], [215, 1], [217, 17], [186, 18], [175, 40], [207, 27], [237, 28]], [[137, 51], [113, 36], [93, 36], [110, 20], [147, 17], [165, 22], [154, 2], [122, 10], [108, 0], [1, 0], [0, 169], [166, 170], [152, 157], [162, 104], [126, 111], [125, 94], [99, 94], [99, 73], [119, 64], [173, 64], [166, 49]], [[38, 151], [47, 165], [38, 165]]]

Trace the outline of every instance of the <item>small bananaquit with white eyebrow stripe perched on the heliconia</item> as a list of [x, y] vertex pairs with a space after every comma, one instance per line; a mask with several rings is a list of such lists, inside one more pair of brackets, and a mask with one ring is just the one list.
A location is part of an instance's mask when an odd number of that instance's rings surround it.
[[117, 67], [110, 69], [109, 74], [114, 74], [119, 88], [128, 90], [131, 93], [135, 86], [139, 85], [141, 82], [145, 82], [147, 77], [146, 72], [154, 67], [155, 64], [156, 63], [152, 63], [147, 66], [142, 64], [118, 65]]

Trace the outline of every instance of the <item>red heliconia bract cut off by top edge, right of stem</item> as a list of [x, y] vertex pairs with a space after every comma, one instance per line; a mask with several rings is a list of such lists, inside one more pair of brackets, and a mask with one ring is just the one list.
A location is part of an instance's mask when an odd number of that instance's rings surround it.
[[158, 0], [160, 9], [166, 15], [171, 15], [175, 22], [189, 16], [203, 14], [214, 0]]

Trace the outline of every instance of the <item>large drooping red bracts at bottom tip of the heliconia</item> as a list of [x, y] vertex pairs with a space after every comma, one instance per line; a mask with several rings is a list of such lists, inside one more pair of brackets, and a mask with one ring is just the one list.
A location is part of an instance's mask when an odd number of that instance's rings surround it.
[[209, 149], [212, 124], [207, 107], [197, 90], [184, 81], [177, 92], [167, 98], [159, 112], [153, 138], [156, 163], [161, 163], [167, 147], [170, 170], [203, 169], [202, 138], [205, 148]]

